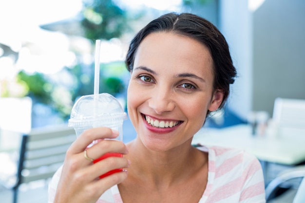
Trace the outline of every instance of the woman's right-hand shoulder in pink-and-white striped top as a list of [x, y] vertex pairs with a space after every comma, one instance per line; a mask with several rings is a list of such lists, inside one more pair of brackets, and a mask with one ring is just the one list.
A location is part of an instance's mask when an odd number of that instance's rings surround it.
[[263, 170], [254, 155], [236, 148], [204, 146], [198, 149], [209, 153], [209, 200], [265, 202]]

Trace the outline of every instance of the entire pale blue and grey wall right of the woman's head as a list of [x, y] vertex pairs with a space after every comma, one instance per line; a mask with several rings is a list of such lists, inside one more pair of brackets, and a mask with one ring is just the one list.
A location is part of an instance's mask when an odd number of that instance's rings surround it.
[[220, 0], [220, 30], [239, 77], [229, 109], [246, 119], [250, 111], [273, 113], [276, 97], [305, 99], [305, 1]]

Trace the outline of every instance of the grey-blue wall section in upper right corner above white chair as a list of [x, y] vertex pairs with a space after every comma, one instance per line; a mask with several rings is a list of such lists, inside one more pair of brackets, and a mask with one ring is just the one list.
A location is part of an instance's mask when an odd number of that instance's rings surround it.
[[253, 13], [253, 109], [305, 99], [305, 1], [265, 0]]

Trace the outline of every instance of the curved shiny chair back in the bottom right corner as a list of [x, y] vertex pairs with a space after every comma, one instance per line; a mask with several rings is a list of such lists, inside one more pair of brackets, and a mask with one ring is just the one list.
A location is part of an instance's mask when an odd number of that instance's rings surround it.
[[297, 193], [293, 203], [300, 202], [305, 199], [305, 166], [295, 166], [286, 169], [273, 179], [266, 187], [266, 201], [270, 201], [277, 196], [277, 192], [281, 189], [296, 188]]

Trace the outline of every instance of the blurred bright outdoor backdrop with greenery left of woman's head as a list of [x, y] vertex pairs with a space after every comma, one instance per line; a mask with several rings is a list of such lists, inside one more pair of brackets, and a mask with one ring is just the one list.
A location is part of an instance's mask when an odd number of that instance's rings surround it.
[[76, 99], [93, 94], [96, 39], [102, 40], [100, 92], [125, 107], [124, 57], [134, 34], [169, 11], [196, 10], [217, 23], [214, 0], [1, 1], [0, 129], [67, 122]]

